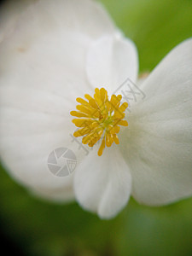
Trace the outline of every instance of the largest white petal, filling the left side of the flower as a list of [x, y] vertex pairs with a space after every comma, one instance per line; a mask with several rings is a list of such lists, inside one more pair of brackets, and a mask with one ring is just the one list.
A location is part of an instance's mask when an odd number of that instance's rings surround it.
[[[89, 20], [89, 22], [88, 22]], [[14, 21], [15, 23], [15, 21]], [[0, 44], [0, 153], [15, 179], [34, 193], [56, 200], [73, 197], [73, 176], [55, 177], [47, 158], [72, 143], [70, 111], [90, 93], [84, 67], [94, 40], [116, 33], [100, 3], [42, 0], [20, 15]]]

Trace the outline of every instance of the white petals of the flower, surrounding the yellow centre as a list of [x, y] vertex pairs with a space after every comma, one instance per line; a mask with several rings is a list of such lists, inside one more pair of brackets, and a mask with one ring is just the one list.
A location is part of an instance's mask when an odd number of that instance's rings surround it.
[[[192, 194], [191, 39], [144, 81], [146, 98], [131, 106], [119, 145], [98, 156], [97, 146], [86, 155], [72, 143], [70, 112], [96, 87], [111, 95], [125, 79], [136, 81], [134, 44], [90, 0], [38, 1], [11, 26], [0, 44], [0, 152], [18, 182], [57, 201], [75, 196], [101, 218], [115, 216], [130, 195], [160, 206]], [[78, 166], [55, 177], [47, 158], [63, 146]]]

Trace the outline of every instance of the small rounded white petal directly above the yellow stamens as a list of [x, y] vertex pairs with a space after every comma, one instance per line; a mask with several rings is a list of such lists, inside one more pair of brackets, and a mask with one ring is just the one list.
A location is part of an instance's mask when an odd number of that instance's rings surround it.
[[126, 79], [135, 82], [137, 72], [137, 49], [129, 39], [105, 36], [90, 47], [87, 76], [94, 88], [104, 86], [113, 94]]

